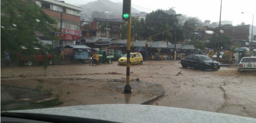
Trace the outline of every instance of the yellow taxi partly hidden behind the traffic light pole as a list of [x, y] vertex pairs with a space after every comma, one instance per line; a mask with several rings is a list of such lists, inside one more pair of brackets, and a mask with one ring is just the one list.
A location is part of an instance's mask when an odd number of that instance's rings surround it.
[[[126, 64], [127, 54], [118, 59], [118, 64]], [[143, 59], [140, 53], [130, 53], [130, 64], [142, 64]]]

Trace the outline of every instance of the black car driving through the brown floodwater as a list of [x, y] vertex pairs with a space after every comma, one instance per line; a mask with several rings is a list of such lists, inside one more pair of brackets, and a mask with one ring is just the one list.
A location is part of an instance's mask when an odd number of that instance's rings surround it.
[[193, 67], [199, 70], [220, 69], [220, 63], [213, 61], [211, 58], [205, 55], [188, 55], [185, 58], [181, 59], [180, 64], [183, 68]]

